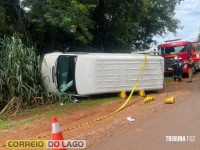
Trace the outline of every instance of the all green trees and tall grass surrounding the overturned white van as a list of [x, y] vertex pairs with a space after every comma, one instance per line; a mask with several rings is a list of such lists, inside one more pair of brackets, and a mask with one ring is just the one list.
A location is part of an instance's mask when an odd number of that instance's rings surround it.
[[148, 48], [179, 28], [180, 1], [0, 0], [0, 114], [64, 99], [45, 92], [39, 55]]

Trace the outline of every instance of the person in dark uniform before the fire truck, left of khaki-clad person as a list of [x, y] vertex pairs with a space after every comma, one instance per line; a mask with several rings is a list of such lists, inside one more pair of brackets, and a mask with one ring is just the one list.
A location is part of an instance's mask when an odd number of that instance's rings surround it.
[[174, 72], [173, 72], [174, 81], [176, 81], [176, 79], [178, 79], [178, 81], [180, 82], [182, 80], [182, 73], [183, 73], [182, 58], [177, 57], [177, 56], [174, 57], [174, 60], [172, 61], [171, 65], [174, 70]]

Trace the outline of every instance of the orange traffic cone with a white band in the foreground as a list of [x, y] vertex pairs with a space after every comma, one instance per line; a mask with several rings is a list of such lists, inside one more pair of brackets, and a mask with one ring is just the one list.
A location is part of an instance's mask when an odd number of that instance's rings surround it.
[[[56, 116], [52, 117], [52, 140], [64, 140]], [[66, 150], [66, 148], [52, 148], [52, 150]]]

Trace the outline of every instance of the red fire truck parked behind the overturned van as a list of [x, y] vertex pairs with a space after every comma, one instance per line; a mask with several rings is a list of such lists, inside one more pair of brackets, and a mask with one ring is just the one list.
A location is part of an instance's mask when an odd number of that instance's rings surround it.
[[158, 45], [159, 53], [165, 59], [165, 74], [172, 73], [171, 63], [174, 57], [181, 57], [184, 62], [183, 73], [188, 73], [187, 58], [192, 56], [195, 62], [195, 71], [200, 69], [200, 42], [183, 41], [181, 39], [165, 41]]

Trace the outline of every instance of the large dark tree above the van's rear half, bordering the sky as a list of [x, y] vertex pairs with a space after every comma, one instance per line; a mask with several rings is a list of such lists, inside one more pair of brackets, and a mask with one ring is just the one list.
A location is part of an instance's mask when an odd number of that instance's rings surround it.
[[[174, 19], [179, 0], [98, 0], [93, 13], [92, 43], [101, 49], [148, 47], [154, 35], [176, 32]], [[112, 50], [111, 50], [112, 51]]]

